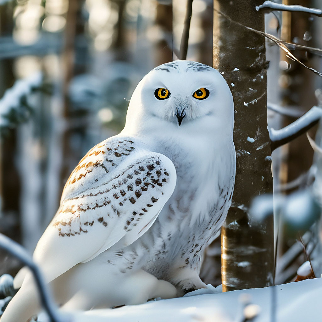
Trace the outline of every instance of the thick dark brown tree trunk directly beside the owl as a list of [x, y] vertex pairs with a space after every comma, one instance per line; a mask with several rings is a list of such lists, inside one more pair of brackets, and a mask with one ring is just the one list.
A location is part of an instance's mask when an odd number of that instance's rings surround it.
[[214, 0], [213, 67], [232, 90], [237, 157], [233, 204], [222, 229], [224, 291], [273, 284], [273, 218], [256, 223], [249, 213], [255, 196], [273, 190], [265, 38], [240, 25], [264, 31], [264, 14], [255, 10], [261, 3]]

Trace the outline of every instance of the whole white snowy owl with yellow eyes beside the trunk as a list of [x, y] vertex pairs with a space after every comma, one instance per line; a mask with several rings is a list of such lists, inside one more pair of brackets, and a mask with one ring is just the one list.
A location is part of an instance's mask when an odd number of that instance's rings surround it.
[[[175, 61], [140, 81], [124, 129], [81, 159], [34, 251], [62, 309], [205, 287], [203, 252], [232, 200], [233, 122], [232, 93], [212, 67]], [[14, 287], [1, 322], [25, 322], [41, 309], [26, 269]]]

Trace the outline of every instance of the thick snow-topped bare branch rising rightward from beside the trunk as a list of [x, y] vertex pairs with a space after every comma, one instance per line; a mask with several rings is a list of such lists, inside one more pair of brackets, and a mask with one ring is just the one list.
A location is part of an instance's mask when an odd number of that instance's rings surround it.
[[296, 137], [299, 137], [301, 134], [305, 133], [308, 129], [317, 124], [321, 117], [322, 109], [320, 107], [313, 106], [308, 112], [285, 128], [281, 128], [279, 130], [274, 130], [271, 128], [269, 130], [271, 151], [286, 143], [289, 143]]

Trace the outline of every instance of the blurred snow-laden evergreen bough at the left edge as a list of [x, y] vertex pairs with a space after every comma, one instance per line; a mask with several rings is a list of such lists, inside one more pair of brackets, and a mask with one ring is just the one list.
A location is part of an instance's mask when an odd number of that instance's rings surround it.
[[22, 99], [30, 94], [33, 89], [38, 88], [43, 81], [43, 74], [37, 72], [24, 79], [15, 81], [14, 85], [5, 91], [0, 99], [0, 126], [8, 125], [8, 115], [11, 110], [18, 109]]

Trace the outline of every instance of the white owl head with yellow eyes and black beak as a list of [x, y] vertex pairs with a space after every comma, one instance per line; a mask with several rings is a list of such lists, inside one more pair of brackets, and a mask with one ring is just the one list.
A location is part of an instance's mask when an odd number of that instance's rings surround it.
[[232, 133], [233, 121], [232, 93], [220, 72], [199, 62], [174, 61], [154, 68], [137, 85], [126, 128]]

